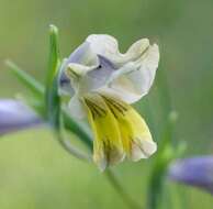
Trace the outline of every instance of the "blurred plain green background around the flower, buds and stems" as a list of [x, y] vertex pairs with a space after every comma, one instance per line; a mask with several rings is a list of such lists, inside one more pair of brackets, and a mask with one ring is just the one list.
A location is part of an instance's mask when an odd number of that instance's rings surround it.
[[[172, 109], [179, 114], [176, 140], [188, 142], [187, 156], [212, 153], [212, 0], [0, 0], [0, 97], [27, 94], [5, 68], [7, 58], [44, 81], [51, 23], [60, 30], [63, 56], [91, 33], [114, 35], [122, 52], [136, 40], [148, 37], [159, 44], [161, 57], [156, 82], [136, 105], [138, 111], [147, 119], [155, 141], [159, 141], [167, 106], [159, 84], [164, 72]], [[146, 202], [150, 162], [125, 162], [114, 168], [141, 205]], [[166, 184], [172, 208], [212, 208], [210, 195]], [[0, 208], [126, 207], [96, 166], [69, 156], [47, 130], [36, 129], [1, 138]]]

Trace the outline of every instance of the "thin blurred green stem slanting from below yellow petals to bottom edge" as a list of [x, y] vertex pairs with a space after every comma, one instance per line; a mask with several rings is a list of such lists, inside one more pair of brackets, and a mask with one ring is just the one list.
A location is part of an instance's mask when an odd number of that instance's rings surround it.
[[125, 191], [124, 187], [120, 184], [120, 182], [116, 179], [115, 175], [113, 174], [112, 170], [108, 169], [105, 170], [105, 177], [108, 178], [108, 180], [111, 183], [111, 185], [114, 187], [114, 189], [116, 190], [116, 193], [120, 195], [120, 197], [123, 199], [123, 201], [125, 202], [125, 205], [130, 208], [130, 209], [142, 209], [141, 206], [138, 206], [130, 196]]

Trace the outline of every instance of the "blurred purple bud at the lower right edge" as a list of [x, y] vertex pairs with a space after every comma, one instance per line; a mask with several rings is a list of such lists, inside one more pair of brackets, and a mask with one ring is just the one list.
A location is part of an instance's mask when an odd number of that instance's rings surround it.
[[168, 170], [171, 180], [195, 186], [213, 194], [213, 156], [197, 156], [173, 162]]

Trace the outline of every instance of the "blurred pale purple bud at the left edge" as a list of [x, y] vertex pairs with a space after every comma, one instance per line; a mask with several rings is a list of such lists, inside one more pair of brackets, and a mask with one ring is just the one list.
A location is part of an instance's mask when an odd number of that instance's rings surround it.
[[0, 100], [0, 135], [41, 124], [42, 120], [21, 101]]

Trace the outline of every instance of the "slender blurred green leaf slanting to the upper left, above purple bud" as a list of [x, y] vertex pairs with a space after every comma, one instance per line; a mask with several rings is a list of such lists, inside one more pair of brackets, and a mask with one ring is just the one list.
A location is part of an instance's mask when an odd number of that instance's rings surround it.
[[5, 61], [5, 65], [11, 69], [15, 77], [33, 94], [37, 96], [42, 96], [44, 94], [43, 85], [35, 80], [31, 75], [19, 68], [13, 62]]

